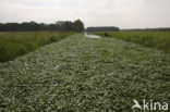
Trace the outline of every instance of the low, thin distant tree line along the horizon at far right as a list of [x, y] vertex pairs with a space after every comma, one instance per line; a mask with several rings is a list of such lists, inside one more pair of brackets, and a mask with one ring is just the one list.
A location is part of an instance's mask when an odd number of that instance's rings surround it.
[[132, 29], [122, 29], [124, 32], [170, 32], [170, 27], [160, 27], [160, 28], [132, 28]]

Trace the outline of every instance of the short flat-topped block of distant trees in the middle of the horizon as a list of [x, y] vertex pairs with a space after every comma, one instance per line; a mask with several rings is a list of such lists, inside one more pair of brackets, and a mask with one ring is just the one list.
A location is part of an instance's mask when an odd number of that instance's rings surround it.
[[87, 27], [86, 32], [119, 32], [119, 27], [114, 27], [114, 26], [104, 26], [104, 27]]

